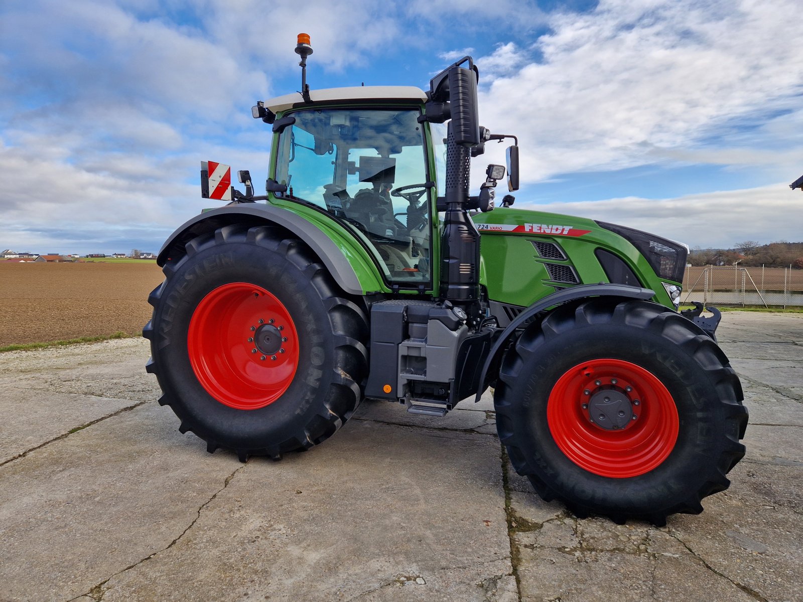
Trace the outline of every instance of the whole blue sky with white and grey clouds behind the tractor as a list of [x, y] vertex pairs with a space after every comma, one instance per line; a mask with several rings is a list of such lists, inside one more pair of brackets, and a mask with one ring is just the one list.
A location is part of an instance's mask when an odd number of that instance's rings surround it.
[[[798, 14], [799, 0], [2, 0], [0, 250], [156, 252], [211, 206], [201, 161], [264, 181], [271, 132], [251, 106], [300, 89], [300, 32], [313, 89], [426, 89], [472, 55], [480, 122], [519, 137], [517, 208], [691, 247], [803, 241]], [[475, 193], [504, 163], [487, 148]]]

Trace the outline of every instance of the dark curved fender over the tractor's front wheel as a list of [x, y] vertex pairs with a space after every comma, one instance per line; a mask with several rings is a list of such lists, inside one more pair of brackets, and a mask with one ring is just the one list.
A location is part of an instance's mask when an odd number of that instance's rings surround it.
[[[483, 364], [483, 371], [479, 374], [479, 388], [477, 389], [477, 395], [474, 400], [475, 403], [479, 401], [479, 398], [487, 388], [486, 383], [488, 376], [493, 376], [495, 372], [499, 370], [499, 359], [501, 359], [504, 349], [507, 348], [507, 343], [512, 339], [516, 330], [522, 327], [533, 315], [548, 309], [548, 307], [560, 305], [576, 299], [584, 299], [586, 297], [652, 299], [654, 295], [655, 292], [650, 291], [649, 288], [629, 287], [626, 284], [582, 284], [577, 287], [565, 288], [562, 291], [557, 291], [552, 295], [547, 295], [544, 299], [540, 299], [537, 303], [533, 303], [508, 324], [507, 328], [505, 328], [502, 334], [496, 339], [491, 351], [488, 352], [485, 364]], [[491, 380], [493, 380], [493, 378], [491, 378]]]

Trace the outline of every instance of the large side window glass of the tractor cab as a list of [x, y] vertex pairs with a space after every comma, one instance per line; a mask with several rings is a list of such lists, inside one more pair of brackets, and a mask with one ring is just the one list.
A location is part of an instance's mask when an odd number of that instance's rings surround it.
[[385, 277], [430, 279], [430, 202], [418, 110], [294, 112], [279, 138], [284, 195], [348, 222], [369, 239]]

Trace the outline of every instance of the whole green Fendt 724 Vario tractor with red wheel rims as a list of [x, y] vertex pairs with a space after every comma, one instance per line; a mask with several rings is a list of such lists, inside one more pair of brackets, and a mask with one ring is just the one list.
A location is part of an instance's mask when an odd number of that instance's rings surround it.
[[[224, 180], [233, 200], [158, 256], [143, 335], [181, 432], [279, 459], [366, 397], [442, 417], [492, 387], [512, 466], [578, 516], [660, 525], [726, 489], [748, 413], [719, 312], [678, 311], [687, 248], [507, 195], [494, 209], [518, 146], [479, 125], [470, 57], [427, 92], [311, 91], [308, 38], [296, 52], [301, 92], [253, 108], [273, 133], [267, 194]], [[471, 195], [471, 157], [506, 138]]]

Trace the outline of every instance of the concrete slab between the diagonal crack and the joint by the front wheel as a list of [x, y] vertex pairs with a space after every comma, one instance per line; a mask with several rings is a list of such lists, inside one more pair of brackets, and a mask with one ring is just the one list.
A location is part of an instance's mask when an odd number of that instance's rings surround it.
[[185, 599], [485, 600], [512, 574], [501, 485], [493, 437], [352, 421], [305, 454], [251, 459], [103, 599], [167, 599], [193, 567]]

